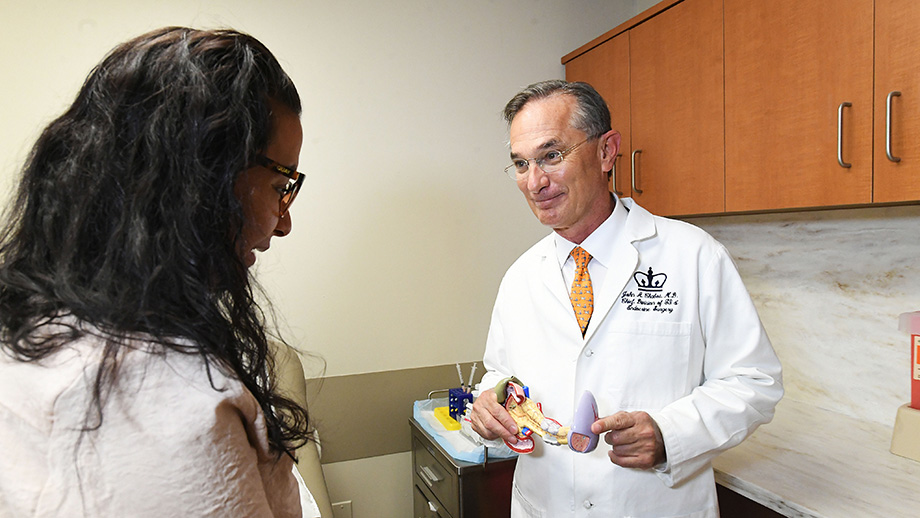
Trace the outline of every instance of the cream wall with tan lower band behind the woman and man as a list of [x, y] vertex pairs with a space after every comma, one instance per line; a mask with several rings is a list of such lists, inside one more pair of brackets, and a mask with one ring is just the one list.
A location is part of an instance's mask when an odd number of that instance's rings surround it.
[[[342, 427], [362, 423], [360, 448], [399, 439], [362, 453], [331, 427], [333, 501], [351, 500], [355, 517], [407, 516], [405, 416], [367, 422], [353, 403], [386, 402], [395, 376], [385, 373], [441, 388], [455, 383], [444, 367], [468, 373], [481, 359], [503, 272], [547, 232], [502, 173], [501, 108], [521, 87], [563, 77], [562, 55], [646, 4], [4, 0], [0, 199], [38, 131], [117, 43], [163, 25], [230, 26], [265, 42], [303, 97], [308, 177], [293, 232], [259, 257], [258, 275], [285, 336], [314, 355], [307, 376], [326, 380], [321, 433], [342, 414]], [[375, 373], [382, 386], [340, 390]], [[391, 404], [408, 414], [421, 388]]]

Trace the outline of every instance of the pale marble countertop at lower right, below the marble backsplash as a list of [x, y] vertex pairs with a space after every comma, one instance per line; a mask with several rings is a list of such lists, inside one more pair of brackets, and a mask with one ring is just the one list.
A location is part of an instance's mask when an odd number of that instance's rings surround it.
[[713, 461], [716, 482], [785, 516], [914, 518], [920, 462], [888, 451], [891, 431], [784, 399], [771, 423]]

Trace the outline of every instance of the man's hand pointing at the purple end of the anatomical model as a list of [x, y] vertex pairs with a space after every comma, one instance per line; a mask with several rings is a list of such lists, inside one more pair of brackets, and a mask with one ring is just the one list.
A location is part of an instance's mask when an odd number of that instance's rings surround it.
[[624, 468], [650, 469], [665, 461], [661, 430], [645, 412], [617, 412], [598, 419], [591, 431], [611, 446], [610, 461]]

